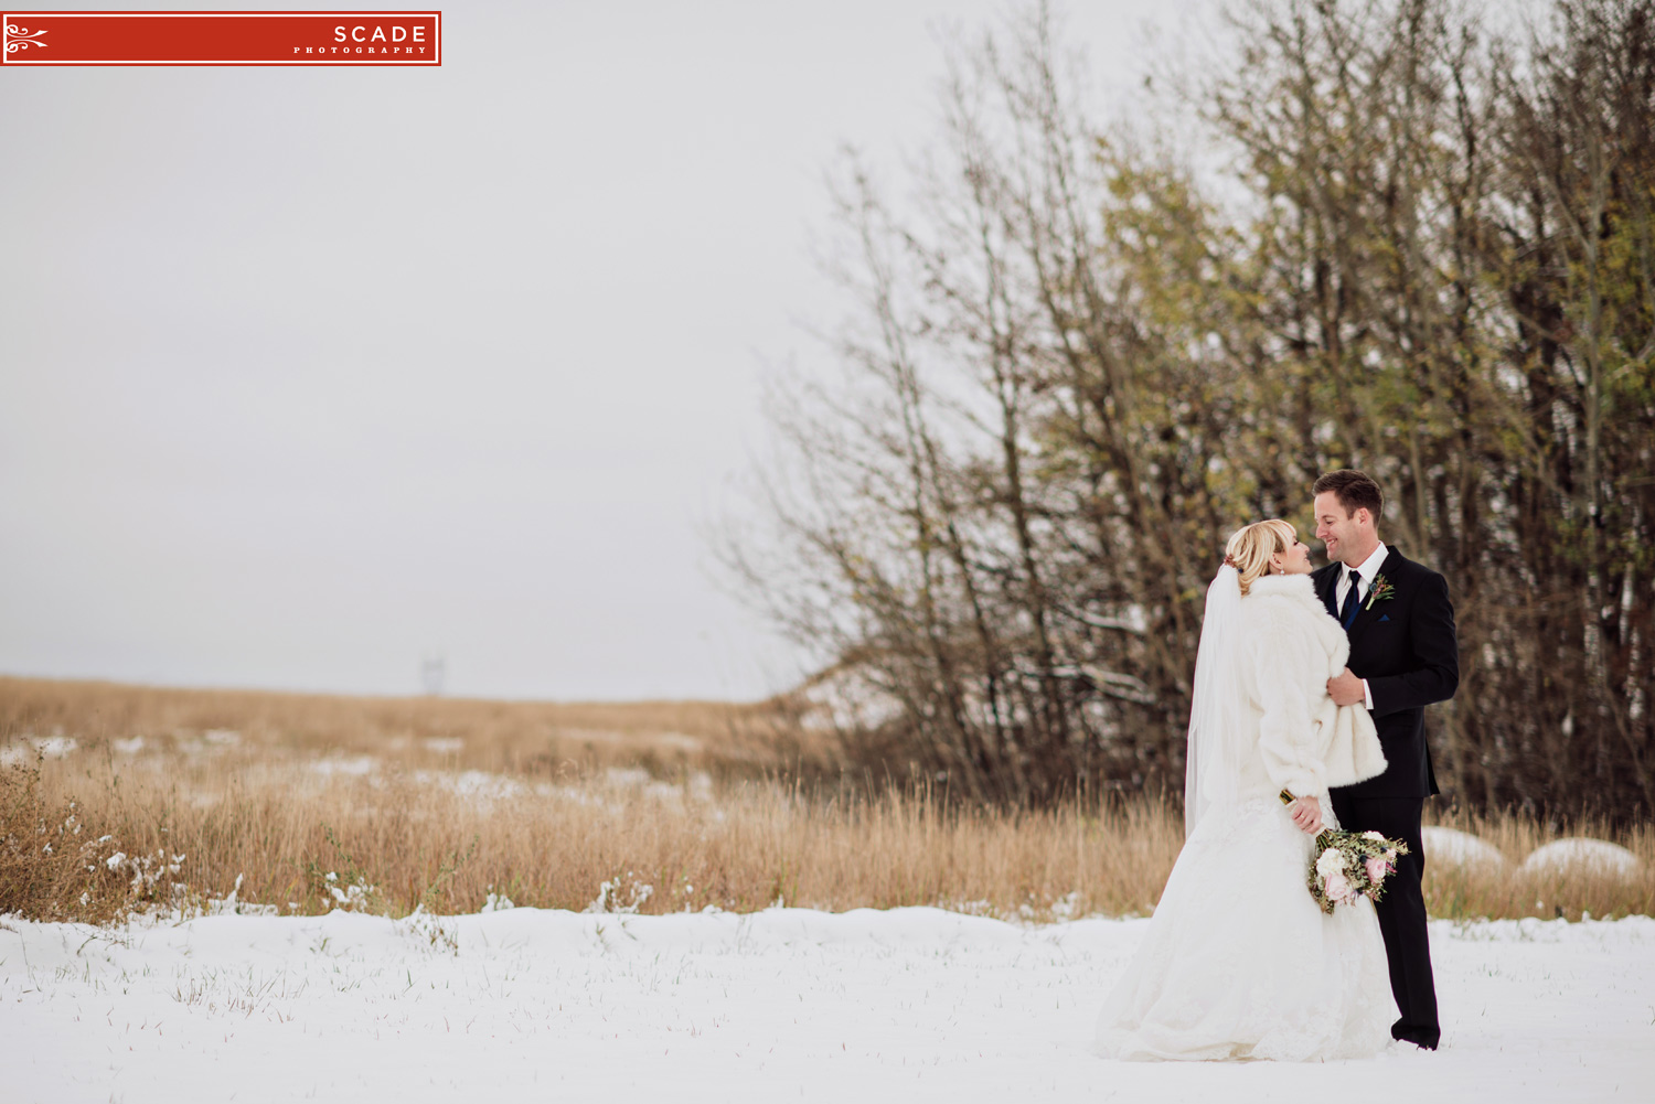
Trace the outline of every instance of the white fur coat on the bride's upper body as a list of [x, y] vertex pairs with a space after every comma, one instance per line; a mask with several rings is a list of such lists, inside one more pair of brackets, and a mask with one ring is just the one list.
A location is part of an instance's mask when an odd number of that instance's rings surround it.
[[1327, 680], [1344, 670], [1350, 642], [1307, 574], [1263, 576], [1241, 599], [1251, 655], [1251, 707], [1271, 785], [1321, 794], [1385, 771], [1374, 718], [1334, 705]]

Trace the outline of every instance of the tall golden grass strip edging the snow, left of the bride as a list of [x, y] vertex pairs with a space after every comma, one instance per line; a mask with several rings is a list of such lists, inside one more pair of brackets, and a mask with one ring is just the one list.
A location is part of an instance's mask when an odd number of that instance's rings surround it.
[[[50, 760], [134, 852], [185, 857], [195, 897], [326, 912], [333, 890], [372, 887], [362, 907], [472, 912], [490, 890], [518, 905], [751, 910], [943, 904], [993, 915], [1147, 912], [1182, 824], [1147, 803], [1104, 814], [945, 809], [927, 794], [804, 798], [773, 783], [642, 781], [627, 771], [563, 783], [414, 771], [318, 771], [225, 753]], [[170, 760], [170, 761], [169, 761]], [[338, 761], [334, 761], [338, 763]], [[344, 761], [354, 768], [356, 763]], [[467, 788], [473, 788], [467, 791]], [[328, 881], [336, 874], [338, 881]], [[649, 889], [645, 889], [649, 887]]]

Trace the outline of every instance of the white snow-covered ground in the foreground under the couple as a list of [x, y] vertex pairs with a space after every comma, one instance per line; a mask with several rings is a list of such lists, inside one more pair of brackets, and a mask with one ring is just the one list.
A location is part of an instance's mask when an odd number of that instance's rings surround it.
[[1648, 1101], [1655, 920], [1432, 929], [1443, 1049], [1122, 1064], [1147, 920], [935, 909], [0, 925], [0, 1099]]

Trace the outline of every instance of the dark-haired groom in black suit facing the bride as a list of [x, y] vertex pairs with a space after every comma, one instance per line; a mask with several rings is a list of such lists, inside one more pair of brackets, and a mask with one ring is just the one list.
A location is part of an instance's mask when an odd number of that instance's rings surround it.
[[1446, 702], [1460, 685], [1453, 606], [1440, 574], [1379, 540], [1379, 483], [1341, 470], [1316, 480], [1312, 492], [1316, 536], [1332, 563], [1311, 581], [1350, 639], [1350, 665], [1327, 680], [1327, 692], [1337, 705], [1369, 708], [1389, 763], [1384, 775], [1341, 786], [1329, 798], [1341, 828], [1379, 831], [1408, 844], [1377, 909], [1390, 991], [1402, 1011], [1390, 1034], [1433, 1051], [1442, 1028], [1420, 894], [1420, 809], [1438, 793], [1425, 745], [1425, 707]]

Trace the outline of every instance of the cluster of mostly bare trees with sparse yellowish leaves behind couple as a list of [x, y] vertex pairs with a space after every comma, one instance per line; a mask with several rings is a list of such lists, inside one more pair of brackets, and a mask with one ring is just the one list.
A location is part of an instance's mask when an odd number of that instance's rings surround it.
[[1253, 5], [1188, 104], [1240, 215], [1086, 118], [1046, 5], [957, 46], [914, 209], [844, 161], [846, 376], [781, 391], [773, 531], [727, 554], [890, 703], [864, 765], [1175, 785], [1223, 538], [1350, 465], [1450, 576], [1456, 794], [1650, 809], [1648, 15], [1503, 41], [1450, 0]]

